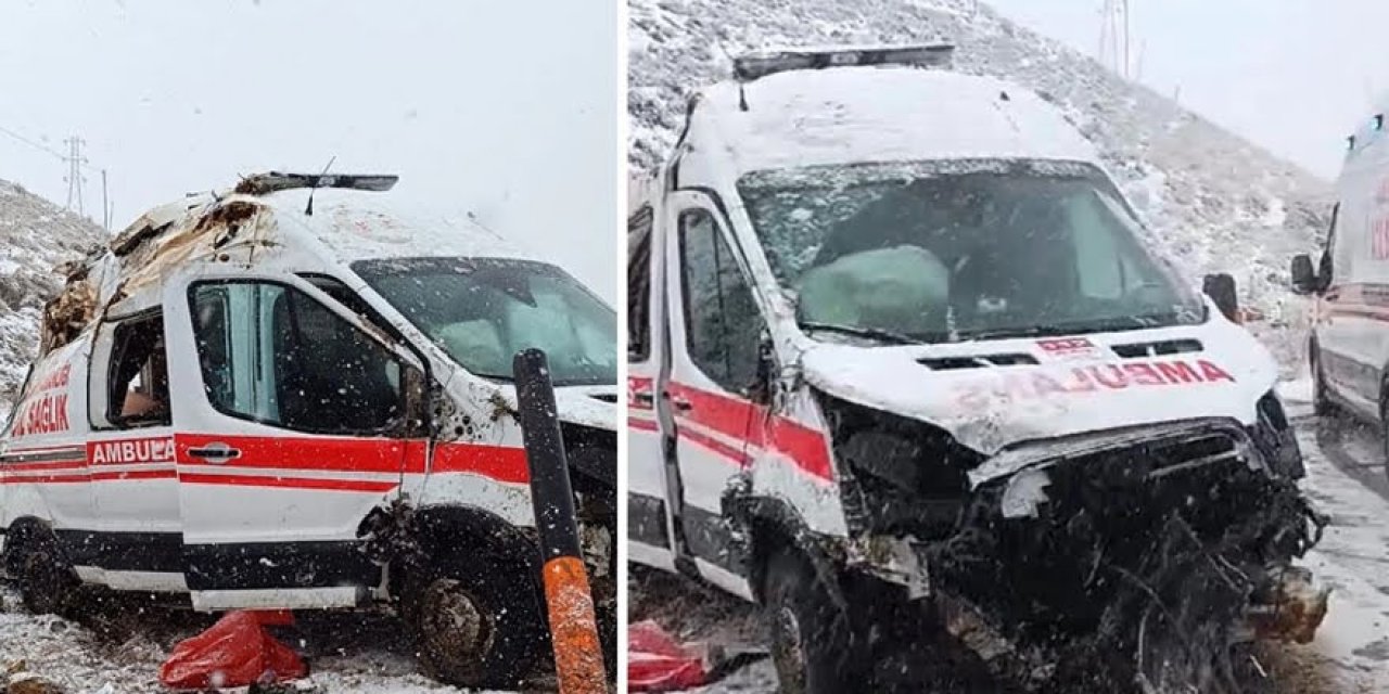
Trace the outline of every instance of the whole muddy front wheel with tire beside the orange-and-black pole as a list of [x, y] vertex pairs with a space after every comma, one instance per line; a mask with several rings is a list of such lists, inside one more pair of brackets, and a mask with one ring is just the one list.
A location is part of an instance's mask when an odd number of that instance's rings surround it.
[[524, 566], [488, 557], [450, 558], [411, 572], [401, 616], [421, 669], [456, 687], [517, 688], [549, 644], [529, 576]]

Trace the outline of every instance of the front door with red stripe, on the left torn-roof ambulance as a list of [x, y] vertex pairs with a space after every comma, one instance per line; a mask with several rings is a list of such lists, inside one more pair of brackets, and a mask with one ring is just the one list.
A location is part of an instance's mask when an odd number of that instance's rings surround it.
[[[425, 469], [422, 369], [297, 278], [207, 278], [165, 303], [197, 609], [358, 604], [367, 514]], [[176, 315], [175, 315], [176, 314]]]

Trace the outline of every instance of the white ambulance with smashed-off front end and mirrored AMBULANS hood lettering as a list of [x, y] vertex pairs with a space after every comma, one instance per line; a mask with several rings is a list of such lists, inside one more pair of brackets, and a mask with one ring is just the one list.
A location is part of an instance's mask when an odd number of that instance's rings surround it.
[[1321, 520], [1274, 359], [1057, 110], [949, 54], [739, 58], [633, 182], [631, 561], [763, 604], [789, 693], [940, 627], [1053, 691], [1310, 638], [1324, 591], [1268, 620]]

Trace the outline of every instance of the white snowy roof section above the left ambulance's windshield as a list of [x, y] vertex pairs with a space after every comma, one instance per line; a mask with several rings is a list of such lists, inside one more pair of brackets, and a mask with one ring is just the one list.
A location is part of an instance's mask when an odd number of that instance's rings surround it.
[[[519, 244], [467, 218], [425, 215], [393, 204], [389, 193], [318, 189], [307, 215], [310, 190], [256, 196], [275, 217], [294, 222], [338, 260], [410, 257], [493, 257], [538, 260]], [[282, 228], [285, 225], [282, 223]]]

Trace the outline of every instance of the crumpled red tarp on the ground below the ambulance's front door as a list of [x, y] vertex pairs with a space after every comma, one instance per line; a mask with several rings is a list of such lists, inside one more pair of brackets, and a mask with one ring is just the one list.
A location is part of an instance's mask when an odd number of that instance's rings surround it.
[[207, 632], [174, 647], [160, 668], [160, 683], [200, 690], [303, 677], [308, 666], [299, 654], [265, 632], [267, 625], [292, 623], [289, 612], [228, 612]]

